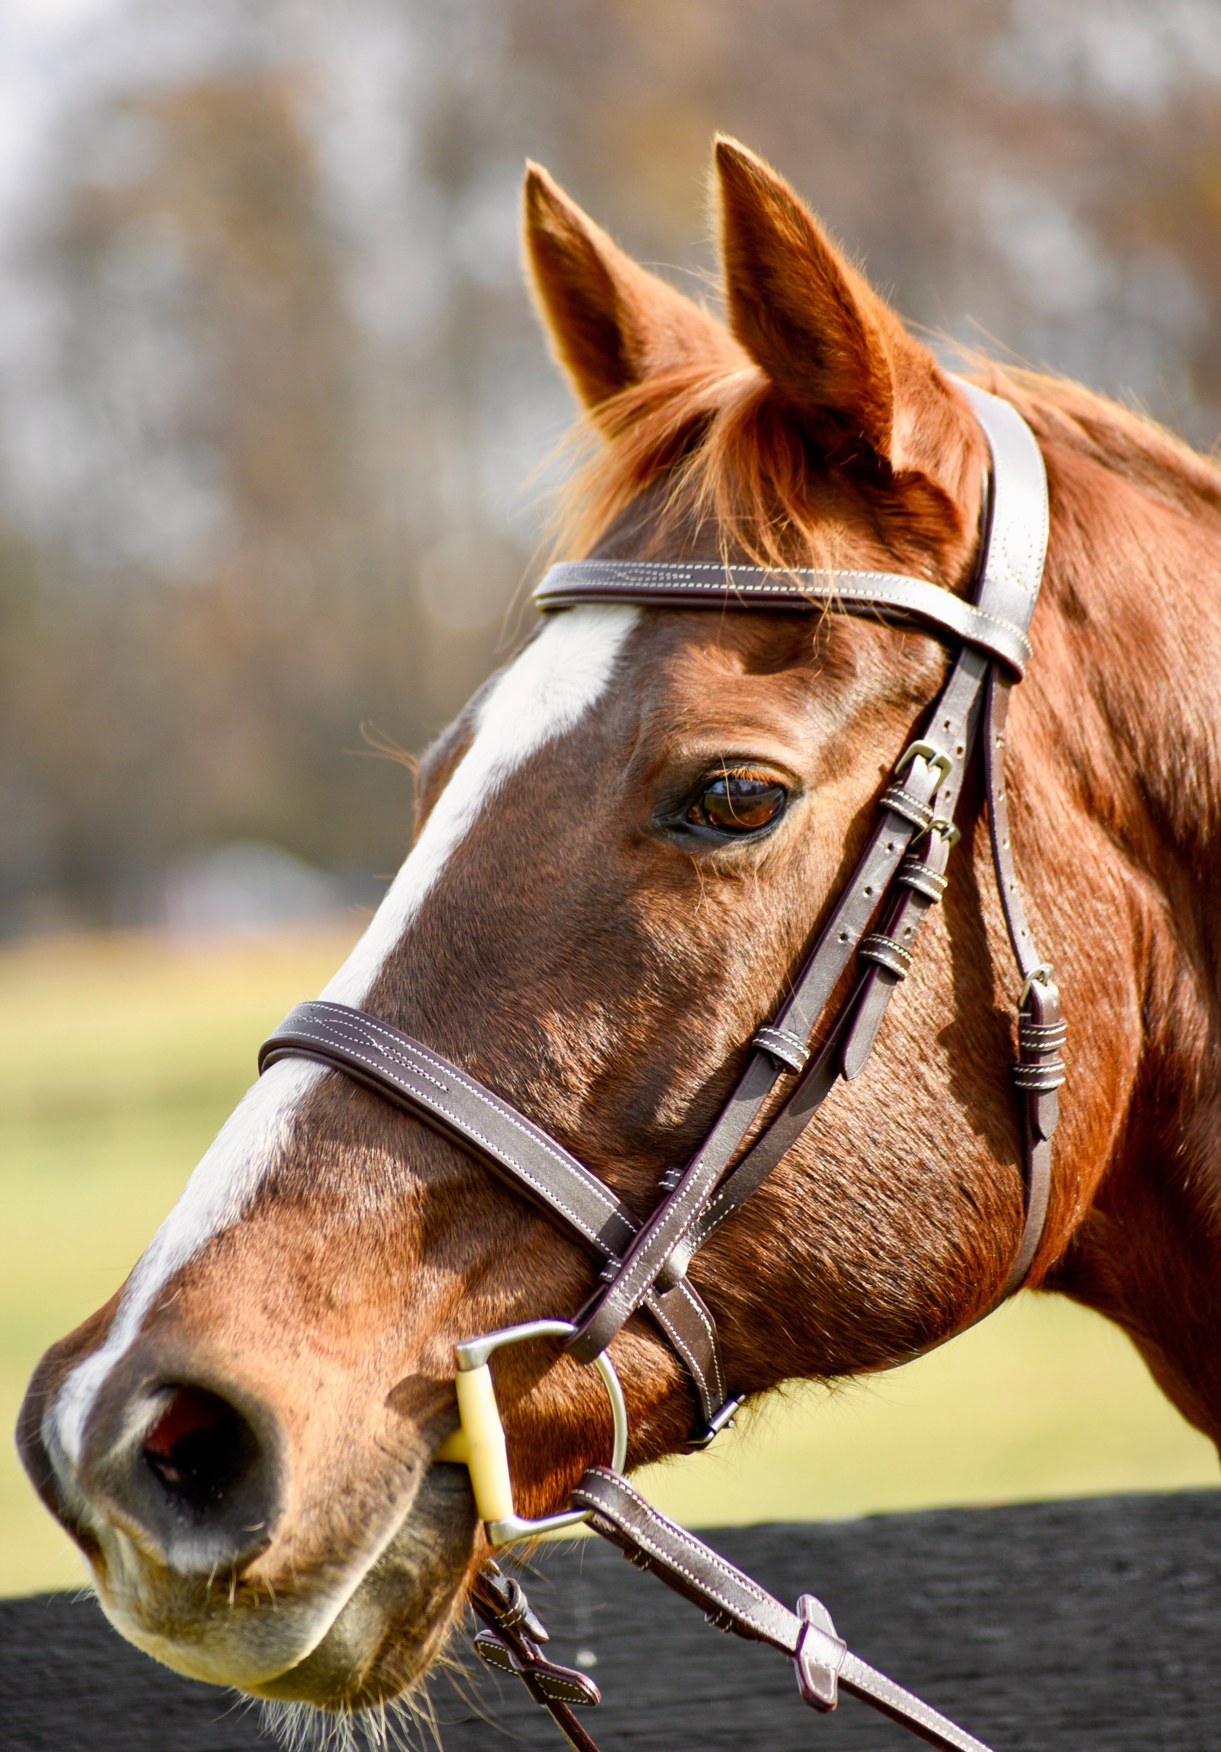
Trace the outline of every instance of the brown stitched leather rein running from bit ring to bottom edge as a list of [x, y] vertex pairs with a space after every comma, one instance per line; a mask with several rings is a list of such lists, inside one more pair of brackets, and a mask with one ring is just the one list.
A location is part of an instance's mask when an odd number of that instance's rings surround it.
[[806, 1703], [834, 1710], [843, 1689], [944, 1752], [988, 1752], [974, 1734], [851, 1654], [813, 1594], [802, 1594], [801, 1614], [790, 1612], [687, 1528], [659, 1514], [620, 1473], [592, 1466], [571, 1501], [592, 1510], [596, 1533], [618, 1545], [638, 1568], [653, 1570], [716, 1629], [767, 1643], [787, 1656]]

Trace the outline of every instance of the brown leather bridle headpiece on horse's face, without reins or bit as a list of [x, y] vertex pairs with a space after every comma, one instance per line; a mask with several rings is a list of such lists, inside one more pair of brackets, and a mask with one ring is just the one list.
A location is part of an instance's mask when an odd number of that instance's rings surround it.
[[[708, 1139], [646, 1223], [638, 1223], [575, 1156], [476, 1079], [361, 1011], [338, 1004], [298, 1006], [265, 1044], [259, 1058], [263, 1067], [294, 1053], [347, 1070], [427, 1120], [559, 1216], [604, 1260], [603, 1284], [578, 1314], [578, 1332], [569, 1346], [573, 1353], [592, 1360], [631, 1312], [645, 1307], [687, 1363], [709, 1428], [727, 1402], [727, 1389], [715, 1328], [708, 1309], [687, 1282], [687, 1261], [792, 1148], [839, 1072], [857, 1076], [864, 1069], [885, 1006], [906, 971], [904, 958], [911, 953], [914, 932], [927, 906], [937, 897], [934, 890], [944, 881], [944, 865], [937, 865], [927, 850], [913, 855], [913, 843], [916, 836], [927, 834], [934, 811], [944, 823], [953, 818], [985, 683], [993, 858], [1006, 922], [1025, 979], [1023, 1009], [1028, 1011], [1028, 1027], [1020, 1030], [1021, 1063], [1016, 1070], [1023, 1099], [1025, 1228], [1006, 1293], [1021, 1282], [1042, 1226], [1049, 1139], [1056, 1121], [1055, 1091], [1062, 1081], [1062, 1067], [1046, 1030], [1042, 1035], [1030, 1030], [1044, 1016], [1046, 1028], [1055, 1028], [1058, 1007], [1053, 1016], [1051, 1006], [1053, 999], [1058, 1004], [1058, 995], [1046, 985], [1048, 971], [1037, 965], [1028, 941], [1007, 851], [1004, 760], [993, 757], [1004, 743], [1004, 711], [1013, 675], [1021, 673], [1023, 652], [1028, 653], [1025, 629], [1042, 575], [1048, 536], [1046, 478], [1042, 457], [1021, 417], [974, 385], [960, 387], [985, 426], [993, 454], [974, 604], [925, 580], [881, 573], [837, 573], [836, 590], [818, 594], [813, 585], [818, 580], [827, 585], [830, 575], [792, 573], [774, 578], [750, 568], [711, 568], [718, 578], [713, 583], [702, 575], [708, 568], [620, 561], [578, 561], [554, 568], [548, 578], [555, 587], [548, 587], [547, 580], [540, 587], [538, 599], [547, 608], [603, 601], [615, 580], [622, 582], [631, 599], [655, 604], [681, 599], [722, 606], [730, 585], [745, 606], [752, 608], [795, 608], [801, 603], [818, 606], [834, 597], [834, 606], [844, 611], [897, 608], [965, 641], [930, 713], [928, 743], [913, 745], [895, 769], [881, 797], [879, 823], [790, 997], [757, 1035], [755, 1051]], [[895, 594], [892, 585], [904, 589]], [[963, 620], [963, 615], [976, 618]], [[997, 627], [1004, 631], [995, 632]], [[1021, 650], [1013, 634], [1018, 634]], [[883, 929], [869, 934], [869, 925], [897, 878], [900, 892], [890, 902]], [[815, 1027], [862, 939], [862, 974], [839, 1018], [825, 1028], [823, 1046], [811, 1060]], [[1032, 997], [1032, 979], [1035, 986], [1044, 981], [1037, 997]], [[778, 1079], [799, 1067], [804, 1069], [788, 1100], [727, 1174]]]

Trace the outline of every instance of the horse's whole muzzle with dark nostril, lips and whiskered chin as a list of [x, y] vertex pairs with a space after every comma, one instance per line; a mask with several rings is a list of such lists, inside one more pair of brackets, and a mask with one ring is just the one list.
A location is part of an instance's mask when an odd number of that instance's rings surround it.
[[[173, 1337], [110, 1370], [74, 1461], [51, 1412], [77, 1360], [63, 1351], [32, 1382], [21, 1456], [123, 1636], [193, 1678], [322, 1708], [415, 1682], [473, 1559], [462, 1468], [408, 1452], [396, 1489], [377, 1489], [357, 1442], [342, 1477], [319, 1470], [300, 1407]], [[307, 1428], [342, 1416], [312, 1410]]]

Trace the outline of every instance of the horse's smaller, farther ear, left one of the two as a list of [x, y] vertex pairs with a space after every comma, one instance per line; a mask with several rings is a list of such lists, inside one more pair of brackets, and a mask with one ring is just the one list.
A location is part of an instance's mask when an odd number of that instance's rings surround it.
[[715, 317], [625, 256], [540, 165], [526, 168], [524, 208], [543, 324], [587, 408], [669, 366], [745, 364]]

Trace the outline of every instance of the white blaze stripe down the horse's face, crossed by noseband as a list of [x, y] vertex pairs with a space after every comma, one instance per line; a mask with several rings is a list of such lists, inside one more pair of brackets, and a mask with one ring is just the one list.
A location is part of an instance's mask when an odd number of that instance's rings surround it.
[[[499, 676], [478, 708], [471, 746], [436, 799], [368, 930], [322, 992], [324, 999], [352, 1006], [364, 1000], [482, 808], [515, 767], [543, 743], [571, 731], [604, 692], [638, 613], [622, 606], [569, 608], [552, 617]], [[137, 1337], [154, 1296], [208, 1237], [240, 1219], [279, 1160], [294, 1109], [321, 1076], [321, 1065], [280, 1060], [233, 1109], [137, 1263], [105, 1344], [60, 1389], [46, 1428], [53, 1452], [58, 1447], [75, 1465], [96, 1391]]]

